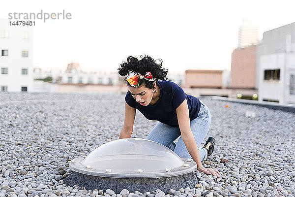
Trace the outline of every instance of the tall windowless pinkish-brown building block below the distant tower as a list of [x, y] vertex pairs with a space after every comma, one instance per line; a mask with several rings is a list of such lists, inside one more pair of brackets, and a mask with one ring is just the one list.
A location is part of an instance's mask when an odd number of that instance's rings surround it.
[[256, 88], [256, 45], [232, 53], [231, 88]]

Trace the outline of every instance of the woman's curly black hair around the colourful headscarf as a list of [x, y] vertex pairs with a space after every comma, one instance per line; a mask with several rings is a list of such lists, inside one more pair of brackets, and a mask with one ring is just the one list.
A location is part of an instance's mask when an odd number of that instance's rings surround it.
[[[127, 58], [127, 62], [123, 62], [120, 67], [118, 68], [118, 73], [121, 76], [125, 76], [128, 74], [129, 71], [133, 70], [135, 72], [138, 72], [142, 75], [145, 75], [147, 72], [150, 72], [152, 77], [156, 79], [156, 82], [160, 79], [162, 81], [167, 80], [166, 77], [168, 74], [168, 70], [165, 68], [162, 68], [162, 60], [156, 60], [160, 63], [157, 64], [154, 59], [152, 59], [149, 56], [141, 56], [141, 60], [138, 60], [135, 57], [129, 56]], [[126, 77], [124, 78], [126, 81]], [[126, 81], [127, 85], [130, 85]], [[139, 80], [139, 86], [145, 85], [147, 88], [151, 89], [153, 87], [153, 82], [148, 81], [146, 79]]]

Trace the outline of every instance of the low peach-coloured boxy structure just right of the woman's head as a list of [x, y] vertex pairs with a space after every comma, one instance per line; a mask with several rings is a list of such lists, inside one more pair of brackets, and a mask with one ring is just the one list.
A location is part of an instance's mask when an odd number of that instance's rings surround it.
[[222, 70], [186, 70], [187, 88], [222, 88]]

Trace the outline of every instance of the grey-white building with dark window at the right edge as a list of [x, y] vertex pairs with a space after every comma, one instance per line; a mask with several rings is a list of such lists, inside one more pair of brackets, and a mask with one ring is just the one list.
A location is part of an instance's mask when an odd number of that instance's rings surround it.
[[295, 23], [264, 33], [257, 71], [259, 100], [295, 103]]

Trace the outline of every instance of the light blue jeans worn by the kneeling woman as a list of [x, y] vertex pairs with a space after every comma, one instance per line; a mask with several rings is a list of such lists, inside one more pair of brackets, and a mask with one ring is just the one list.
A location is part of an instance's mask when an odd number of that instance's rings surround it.
[[[201, 109], [198, 117], [190, 121], [190, 128], [194, 135], [197, 146], [199, 147], [211, 124], [211, 114], [204, 102], [201, 102]], [[182, 137], [177, 143], [173, 143], [181, 135], [179, 127], [171, 127], [169, 125], [158, 122], [157, 125], [150, 131], [147, 139], [158, 142], [173, 150], [179, 157], [191, 158], [187, 151]], [[207, 149], [198, 148], [201, 161], [207, 159]]]

